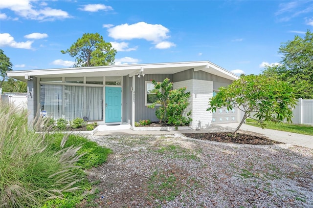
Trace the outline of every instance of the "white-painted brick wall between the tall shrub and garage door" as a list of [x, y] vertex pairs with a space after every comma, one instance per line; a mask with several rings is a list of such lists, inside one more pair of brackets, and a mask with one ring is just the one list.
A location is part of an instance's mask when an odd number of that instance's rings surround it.
[[209, 99], [213, 96], [213, 82], [204, 80], [186, 80], [173, 83], [173, 88], [186, 87], [191, 92], [190, 104], [187, 111], [192, 110], [191, 127], [196, 129], [197, 124], [201, 121], [201, 127], [207, 128], [212, 125], [212, 113], [206, 111]]

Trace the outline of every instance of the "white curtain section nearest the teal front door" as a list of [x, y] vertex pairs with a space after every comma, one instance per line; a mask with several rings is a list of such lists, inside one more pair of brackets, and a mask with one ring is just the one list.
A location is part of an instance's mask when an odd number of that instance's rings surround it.
[[103, 88], [102, 87], [86, 87], [86, 110], [89, 121], [102, 120], [102, 101]]

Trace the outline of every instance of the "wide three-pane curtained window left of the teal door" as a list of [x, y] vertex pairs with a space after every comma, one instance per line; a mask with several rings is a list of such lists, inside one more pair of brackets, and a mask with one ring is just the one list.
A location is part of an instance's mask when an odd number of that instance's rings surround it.
[[40, 85], [41, 110], [53, 119], [71, 121], [88, 117], [89, 121], [103, 120], [103, 87], [59, 84]]

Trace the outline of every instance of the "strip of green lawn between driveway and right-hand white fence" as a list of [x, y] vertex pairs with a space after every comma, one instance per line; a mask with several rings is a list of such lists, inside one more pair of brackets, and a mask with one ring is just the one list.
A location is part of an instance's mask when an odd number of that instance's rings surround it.
[[[295, 124], [275, 124], [273, 122], [264, 122], [266, 124], [265, 128], [280, 130], [280, 131], [287, 131], [297, 134], [305, 134], [313, 136], [313, 126], [312, 125], [295, 125]], [[246, 119], [246, 125], [253, 125], [258, 126], [257, 122], [253, 119]]]

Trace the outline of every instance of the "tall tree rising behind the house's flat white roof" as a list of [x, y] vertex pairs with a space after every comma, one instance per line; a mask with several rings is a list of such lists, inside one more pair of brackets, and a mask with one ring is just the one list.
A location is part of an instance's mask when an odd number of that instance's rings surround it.
[[105, 66], [114, 64], [116, 50], [98, 33], [85, 33], [66, 51], [61, 50], [61, 53], [75, 57], [75, 67]]

